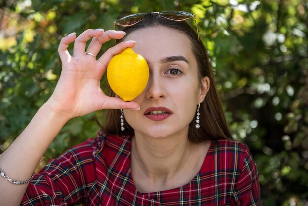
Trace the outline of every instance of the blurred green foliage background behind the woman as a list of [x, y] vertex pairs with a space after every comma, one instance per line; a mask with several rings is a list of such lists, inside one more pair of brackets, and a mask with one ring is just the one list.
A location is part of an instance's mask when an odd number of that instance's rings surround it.
[[[163, 10], [196, 14], [233, 138], [249, 146], [258, 164], [262, 205], [307, 206], [305, 0], [0, 0], [0, 149], [51, 95], [61, 72], [57, 47], [62, 36], [113, 29], [124, 15]], [[95, 137], [103, 115], [69, 121], [37, 169]]]

